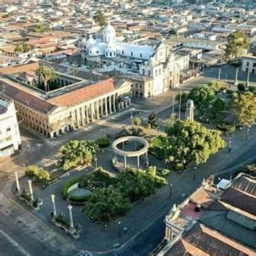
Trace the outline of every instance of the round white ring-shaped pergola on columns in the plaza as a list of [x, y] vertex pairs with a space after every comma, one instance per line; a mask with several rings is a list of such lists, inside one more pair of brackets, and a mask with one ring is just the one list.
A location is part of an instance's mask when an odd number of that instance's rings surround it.
[[[125, 145], [127, 143], [132, 144]], [[122, 149], [120, 148], [120, 145], [122, 145]], [[131, 150], [131, 147], [133, 147], [134, 150]], [[112, 159], [113, 166], [119, 171], [125, 170], [128, 166], [127, 157], [136, 157], [136, 167], [138, 168], [140, 168], [140, 157], [144, 157], [144, 164], [145, 166], [148, 166], [148, 147], [148, 141], [137, 136], [118, 138], [112, 143], [114, 151], [114, 157]], [[119, 157], [124, 159], [124, 163], [118, 159]]]

